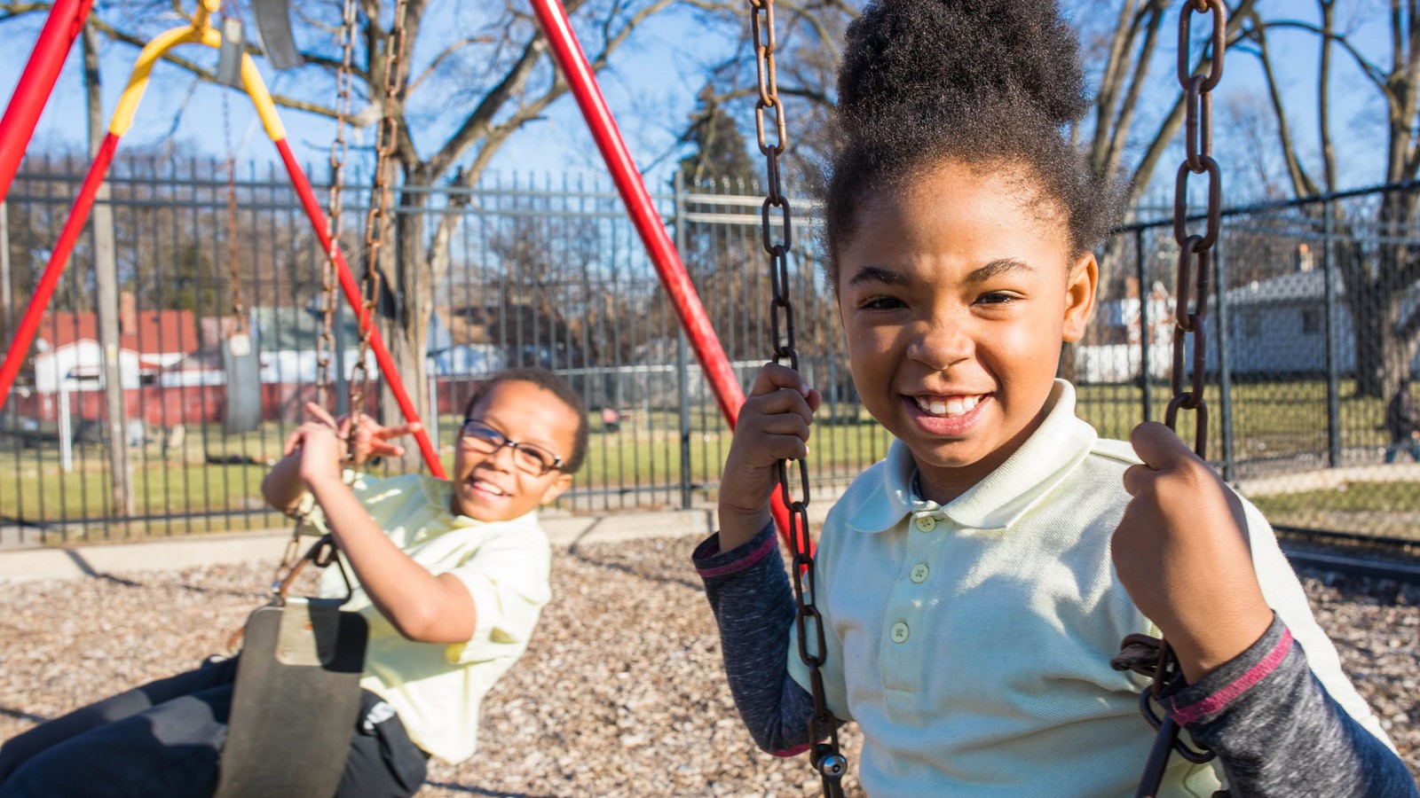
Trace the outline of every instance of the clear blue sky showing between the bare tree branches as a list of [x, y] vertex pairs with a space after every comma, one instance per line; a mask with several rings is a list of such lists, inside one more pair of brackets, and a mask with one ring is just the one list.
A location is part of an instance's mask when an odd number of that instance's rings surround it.
[[[1261, 6], [1269, 14], [1298, 14], [1299, 18], [1315, 18], [1311, 3], [1296, 0], [1262, 0]], [[1353, 0], [1343, 4], [1343, 20], [1355, 20], [1360, 41], [1377, 58], [1384, 57], [1384, 3], [1380, 0]], [[447, 7], [447, 6], [446, 6]], [[454, 6], [452, 13], [463, 16], [469, 11]], [[31, 14], [0, 26], [6, 44], [0, 54], [0, 97], [9, 97], [24, 67], [28, 45], [33, 43], [43, 17]], [[1172, 20], [1166, 27], [1172, 28]], [[453, 28], [456, 26], [450, 26]], [[1201, 26], [1198, 26], [1201, 27]], [[1201, 31], [1196, 31], [1200, 33]], [[1172, 31], [1166, 31], [1172, 40]], [[18, 47], [16, 44], [20, 44]], [[645, 169], [653, 159], [666, 156], [674, 145], [674, 132], [684, 124], [694, 105], [694, 94], [700, 88], [704, 64], [714, 62], [731, 54], [733, 43], [704, 35], [687, 14], [666, 14], [653, 24], [638, 31], [621, 51], [612, 70], [601, 75], [608, 102], [628, 138], [633, 158]], [[1272, 48], [1277, 64], [1282, 68], [1288, 102], [1294, 109], [1304, 158], [1315, 163], [1315, 131], [1312, 114], [1305, 111], [1315, 104], [1315, 78], [1312, 77], [1316, 44], [1311, 34], [1278, 31], [1272, 34]], [[189, 51], [202, 48], [190, 47]], [[136, 48], [118, 43], [104, 43], [104, 104], [105, 116], [112, 111], [126, 78]], [[1088, 55], [1088, 54], [1086, 54]], [[1216, 122], [1220, 131], [1227, 125], [1227, 99], [1231, 95], [1254, 95], [1261, 99], [1261, 78], [1257, 60], [1240, 53], [1230, 54], [1224, 87], [1216, 104]], [[275, 91], [281, 91], [291, 80], [274, 74], [261, 64], [263, 74]], [[1166, 54], [1157, 75], [1172, 72], [1172, 55]], [[1383, 106], [1375, 88], [1355, 70], [1349, 57], [1336, 53], [1333, 131], [1340, 148], [1343, 185], [1372, 185], [1380, 180], [1379, 145], [1383, 142]], [[176, 67], [159, 65], [145, 97], [143, 106], [125, 148], [156, 148], [169, 138], [190, 142], [197, 149], [222, 156], [222, 92], [207, 84], [193, 85], [192, 77]], [[190, 99], [187, 95], [190, 92]], [[75, 151], [84, 145], [82, 75], [80, 70], [80, 48], [74, 47], [64, 72], [55, 87], [54, 97], [45, 108], [30, 152]], [[1164, 98], [1160, 95], [1156, 102]], [[175, 121], [175, 109], [183, 102], [187, 109]], [[240, 160], [264, 163], [275, 158], [274, 149], [266, 142], [254, 124], [254, 114], [237, 92], [229, 92], [231, 108], [233, 139], [239, 146]], [[290, 141], [297, 156], [315, 165], [315, 172], [324, 172], [334, 125], [295, 111], [284, 111], [283, 118], [290, 132]], [[429, 128], [452, 125], [457, 109], [429, 119]], [[1140, 125], [1143, 126], [1143, 125]], [[425, 146], [432, 146], [430, 142]], [[1220, 133], [1216, 149], [1220, 158], [1237, 158], [1235, 142]], [[666, 163], [673, 162], [667, 158]], [[558, 101], [547, 114], [523, 132], [515, 135], [500, 151], [496, 169], [510, 172], [586, 172], [601, 173], [601, 160], [586, 133], [575, 104], [569, 97]], [[1318, 170], [1314, 166], [1314, 172]], [[1164, 168], [1172, 176], [1173, 169]], [[1242, 172], [1245, 175], [1245, 172]], [[318, 176], [312, 175], [312, 176]], [[1244, 177], [1245, 179], [1245, 177]], [[657, 180], [659, 182], [659, 180]], [[1245, 193], [1245, 186], [1244, 192]]]

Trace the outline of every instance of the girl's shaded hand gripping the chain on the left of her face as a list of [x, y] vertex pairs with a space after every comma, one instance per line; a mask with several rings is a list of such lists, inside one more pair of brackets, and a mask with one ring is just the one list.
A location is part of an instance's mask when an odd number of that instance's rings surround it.
[[770, 496], [780, 484], [775, 464], [808, 456], [809, 425], [822, 402], [794, 369], [760, 369], [720, 480], [720, 551], [740, 547], [770, 523]]

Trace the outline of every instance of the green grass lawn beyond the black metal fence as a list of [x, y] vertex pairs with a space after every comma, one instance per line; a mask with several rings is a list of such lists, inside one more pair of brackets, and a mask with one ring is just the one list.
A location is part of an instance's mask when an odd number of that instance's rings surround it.
[[[1342, 396], [1352, 392], [1343, 383]], [[1153, 417], [1163, 417], [1167, 385], [1154, 385]], [[1208, 388], [1210, 454], [1221, 456], [1221, 412], [1217, 386]], [[1285, 383], [1238, 383], [1233, 386], [1234, 457], [1288, 457], [1325, 453], [1326, 386], [1321, 381]], [[1130, 385], [1086, 385], [1078, 389], [1078, 412], [1105, 437], [1127, 439], [1140, 420], [1140, 393]], [[1342, 446], [1379, 447], [1386, 442], [1380, 429], [1384, 403], [1377, 399], [1342, 399]], [[1193, 413], [1180, 413], [1180, 433], [1191, 440]], [[452, 437], [459, 419], [443, 416], [437, 432], [443, 442], [440, 459], [453, 460]], [[696, 408], [689, 419], [690, 483], [707, 486], [719, 480], [730, 446], [730, 433], [714, 408]], [[112, 530], [112, 537], [129, 538], [133, 527], [148, 534], [190, 534], [229, 528], [281, 525], [280, 515], [260, 513], [266, 461], [281, 454], [293, 425], [264, 423], [260, 429], [224, 437], [220, 425], [189, 426], [182, 440], [166, 436], [129, 450], [133, 473], [135, 511], [148, 517]], [[162, 432], [162, 430], [155, 430]], [[156, 437], [165, 437], [158, 434]], [[586, 461], [577, 474], [575, 491], [595, 494], [638, 493], [650, 496], [626, 504], [666, 503], [679, 491], [682, 453], [680, 416], [676, 410], [632, 409], [618, 430], [605, 430], [595, 413]], [[841, 480], [880, 460], [890, 437], [855, 405], [821, 409], [811, 442], [809, 471], [815, 480]], [[0, 446], [4, 446], [0, 443]], [[38, 449], [6, 447], [0, 454], [0, 515], [27, 521], [74, 523], [108, 513], [108, 459], [102, 447], [75, 447], [74, 470], [61, 473], [57, 446]], [[220, 464], [214, 464], [220, 463]], [[379, 469], [376, 469], [379, 473]], [[703, 490], [703, 488], [700, 488]], [[1356, 484], [1346, 491], [1316, 491], [1260, 497], [1269, 514], [1332, 511], [1404, 514], [1420, 511], [1420, 491], [1409, 483]], [[564, 503], [568, 504], [568, 503]], [[572, 498], [574, 510], [608, 505], [604, 500]], [[203, 514], [212, 514], [204, 517]], [[166, 517], [182, 517], [165, 521]], [[94, 534], [94, 532], [91, 532]]]

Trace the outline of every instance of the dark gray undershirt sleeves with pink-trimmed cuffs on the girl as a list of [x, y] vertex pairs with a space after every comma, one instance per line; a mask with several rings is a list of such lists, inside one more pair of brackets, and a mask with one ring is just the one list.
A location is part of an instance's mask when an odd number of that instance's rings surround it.
[[[755, 744], [775, 755], [804, 751], [814, 704], [788, 673], [795, 609], [774, 528], [727, 552], [711, 535], [693, 561], [720, 626], [730, 692]], [[1326, 694], [1281, 621], [1164, 701], [1217, 753], [1234, 798], [1420, 798], [1404, 763]]]

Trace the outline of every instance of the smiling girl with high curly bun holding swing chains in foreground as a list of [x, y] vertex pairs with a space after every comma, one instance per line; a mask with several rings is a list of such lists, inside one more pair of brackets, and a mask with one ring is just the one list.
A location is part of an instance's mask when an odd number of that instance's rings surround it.
[[[816, 557], [826, 701], [862, 730], [863, 788], [1132, 794], [1147, 682], [1109, 660], [1162, 630], [1183, 670], [1164, 709], [1220, 767], [1173, 757], [1160, 795], [1416, 795], [1258, 511], [1162, 425], [1100, 440], [1055, 379], [1115, 210], [1062, 135], [1086, 101], [1055, 1], [869, 3], [838, 92], [828, 277], [896, 437]], [[740, 714], [781, 755], [812, 743], [812, 703], [768, 503], [819, 402], [760, 371], [694, 554]]]

